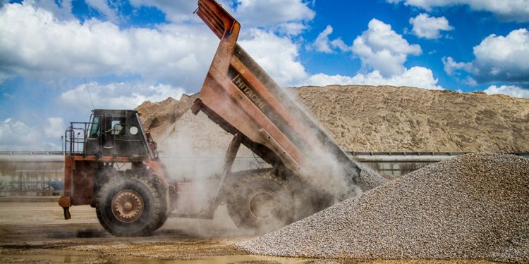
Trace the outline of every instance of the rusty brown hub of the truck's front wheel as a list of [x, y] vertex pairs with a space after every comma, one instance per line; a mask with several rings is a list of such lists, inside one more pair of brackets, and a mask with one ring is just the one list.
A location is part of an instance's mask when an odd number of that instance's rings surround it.
[[112, 199], [112, 213], [121, 222], [138, 220], [144, 208], [142, 197], [133, 190], [119, 191]]

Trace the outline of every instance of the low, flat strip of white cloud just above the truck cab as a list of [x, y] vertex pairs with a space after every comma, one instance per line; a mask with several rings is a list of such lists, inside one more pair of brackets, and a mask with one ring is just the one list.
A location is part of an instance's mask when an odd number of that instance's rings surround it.
[[180, 99], [184, 93], [184, 89], [167, 84], [154, 86], [125, 82], [111, 84], [91, 82], [63, 92], [59, 100], [64, 106], [85, 113], [87, 109], [92, 109], [90, 98], [94, 102], [94, 108], [132, 109], [144, 101], [163, 101], [168, 97]]

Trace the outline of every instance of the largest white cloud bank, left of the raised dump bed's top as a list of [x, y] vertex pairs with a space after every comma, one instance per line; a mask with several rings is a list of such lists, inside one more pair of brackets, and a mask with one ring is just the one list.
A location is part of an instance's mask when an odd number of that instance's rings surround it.
[[59, 20], [31, 4], [0, 10], [2, 75], [140, 75], [174, 85], [203, 80], [218, 39], [203, 25], [130, 28], [99, 20]]

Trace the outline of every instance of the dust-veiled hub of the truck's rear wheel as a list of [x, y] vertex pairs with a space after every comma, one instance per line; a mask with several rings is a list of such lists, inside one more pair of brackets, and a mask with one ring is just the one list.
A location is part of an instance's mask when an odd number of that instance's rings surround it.
[[267, 220], [273, 218], [279, 210], [279, 201], [270, 191], [257, 191], [248, 200], [248, 211], [254, 219]]

